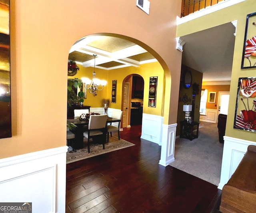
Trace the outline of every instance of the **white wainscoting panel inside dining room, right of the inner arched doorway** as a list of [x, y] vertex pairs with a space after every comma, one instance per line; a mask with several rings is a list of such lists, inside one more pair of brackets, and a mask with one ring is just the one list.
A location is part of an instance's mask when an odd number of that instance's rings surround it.
[[162, 145], [162, 124], [163, 117], [159, 115], [142, 114], [142, 139]]

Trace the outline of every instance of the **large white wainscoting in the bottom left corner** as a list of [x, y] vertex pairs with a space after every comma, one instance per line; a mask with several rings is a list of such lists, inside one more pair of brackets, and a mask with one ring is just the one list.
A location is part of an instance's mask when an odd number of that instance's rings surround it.
[[67, 149], [0, 159], [1, 202], [32, 202], [32, 212], [65, 212]]

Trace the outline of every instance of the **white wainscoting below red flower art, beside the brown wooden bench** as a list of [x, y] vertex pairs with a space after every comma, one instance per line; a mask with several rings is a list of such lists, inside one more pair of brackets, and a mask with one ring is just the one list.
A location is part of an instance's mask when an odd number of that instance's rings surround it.
[[256, 142], [224, 136], [220, 183], [218, 185], [218, 189], [222, 189], [224, 185], [228, 183], [228, 180], [234, 171], [236, 171], [236, 168], [244, 157], [248, 145], [256, 145]]

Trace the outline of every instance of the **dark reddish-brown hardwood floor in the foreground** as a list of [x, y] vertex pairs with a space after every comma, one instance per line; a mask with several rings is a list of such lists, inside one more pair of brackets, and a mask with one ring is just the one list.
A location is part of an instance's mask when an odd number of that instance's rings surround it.
[[124, 128], [135, 146], [67, 164], [66, 213], [217, 212], [221, 190], [159, 165], [161, 147], [140, 135], [141, 125]]

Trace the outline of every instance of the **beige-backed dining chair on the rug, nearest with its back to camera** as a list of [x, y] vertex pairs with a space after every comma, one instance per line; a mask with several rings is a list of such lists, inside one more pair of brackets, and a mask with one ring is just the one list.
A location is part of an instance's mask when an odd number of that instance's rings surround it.
[[87, 138], [88, 153], [90, 153], [90, 138], [96, 135], [105, 136], [103, 139], [103, 149], [105, 149], [107, 117], [108, 115], [90, 115], [88, 130], [83, 134]]

